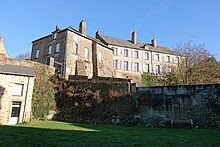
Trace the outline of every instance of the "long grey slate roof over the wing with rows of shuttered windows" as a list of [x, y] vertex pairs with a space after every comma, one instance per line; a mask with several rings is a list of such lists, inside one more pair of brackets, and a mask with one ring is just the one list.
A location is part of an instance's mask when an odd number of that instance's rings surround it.
[[[130, 40], [124, 40], [124, 39], [114, 38], [110, 36], [105, 36], [100, 33], [98, 33], [97, 38], [100, 39], [106, 45], [116, 45], [116, 46], [121, 46], [121, 47], [128, 47], [128, 48], [135, 48], [135, 49], [141, 49], [141, 50], [147, 50], [147, 51], [178, 55], [176, 52], [172, 51], [170, 48], [165, 47], [165, 46], [153, 47], [152, 44], [143, 43], [143, 42], [137, 42], [136, 44], [134, 44]], [[145, 48], [145, 46], [147, 46], [147, 48]]]

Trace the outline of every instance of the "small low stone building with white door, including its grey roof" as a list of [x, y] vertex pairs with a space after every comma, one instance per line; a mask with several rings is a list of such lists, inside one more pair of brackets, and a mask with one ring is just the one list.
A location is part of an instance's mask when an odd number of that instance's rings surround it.
[[14, 125], [31, 119], [34, 69], [0, 65], [0, 124]]

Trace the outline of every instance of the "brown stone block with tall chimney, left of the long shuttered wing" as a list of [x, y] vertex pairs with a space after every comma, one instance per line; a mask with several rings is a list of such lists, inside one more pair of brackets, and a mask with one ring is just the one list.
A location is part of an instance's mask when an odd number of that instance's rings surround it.
[[79, 31], [68, 27], [32, 42], [31, 60], [54, 65], [56, 73], [69, 75], [111, 77], [112, 49], [86, 34], [86, 23], [80, 22]]

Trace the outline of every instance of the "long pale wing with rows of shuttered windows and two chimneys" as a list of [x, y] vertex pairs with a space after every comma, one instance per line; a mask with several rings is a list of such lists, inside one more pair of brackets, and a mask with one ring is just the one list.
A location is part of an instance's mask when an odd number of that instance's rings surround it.
[[113, 38], [96, 33], [96, 38], [113, 49], [113, 77], [133, 79], [140, 84], [143, 72], [162, 75], [179, 64], [180, 56], [170, 48], [157, 45], [156, 39], [151, 44], [138, 42], [137, 32], [131, 40]]

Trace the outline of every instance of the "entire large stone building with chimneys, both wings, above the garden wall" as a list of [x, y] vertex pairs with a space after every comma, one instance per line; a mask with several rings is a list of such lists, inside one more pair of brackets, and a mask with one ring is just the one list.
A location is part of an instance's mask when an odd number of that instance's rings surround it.
[[[52, 57], [52, 58], [51, 58]], [[177, 66], [180, 57], [171, 49], [137, 41], [113, 38], [96, 33], [86, 34], [86, 23], [80, 22], [79, 31], [68, 27], [33, 41], [31, 60], [54, 64], [56, 72], [65, 78], [69, 75], [129, 78], [140, 85], [141, 74], [162, 74]]]

